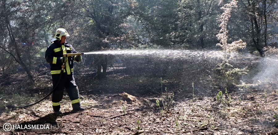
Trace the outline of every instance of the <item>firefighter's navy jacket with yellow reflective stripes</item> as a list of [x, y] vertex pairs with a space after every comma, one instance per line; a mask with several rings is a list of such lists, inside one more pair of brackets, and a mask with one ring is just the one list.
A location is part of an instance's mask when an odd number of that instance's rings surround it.
[[[71, 44], [65, 42], [65, 44], [60, 44], [54, 42], [49, 45], [45, 51], [45, 60], [50, 63], [51, 75], [59, 75], [62, 69], [62, 57], [65, 53], [77, 53]], [[68, 57], [68, 61], [65, 63], [63, 75], [73, 74], [73, 61], [76, 56]]]

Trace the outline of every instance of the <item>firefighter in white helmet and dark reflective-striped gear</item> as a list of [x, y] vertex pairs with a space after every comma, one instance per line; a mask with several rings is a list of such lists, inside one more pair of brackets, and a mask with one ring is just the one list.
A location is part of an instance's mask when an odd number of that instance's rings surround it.
[[[64, 53], [77, 53], [72, 45], [66, 42], [67, 36], [70, 35], [65, 29], [58, 28], [54, 38], [51, 40], [53, 44], [48, 46], [45, 51], [45, 59], [50, 63], [53, 89], [58, 85], [52, 94], [52, 107], [56, 115], [62, 114], [60, 111], [60, 101], [63, 98], [64, 89], [66, 89], [70, 97], [73, 111], [85, 110], [80, 105], [79, 91], [73, 75], [73, 62], [82, 61], [82, 56], [63, 57]], [[59, 81], [63, 63], [65, 63], [65, 66]]]

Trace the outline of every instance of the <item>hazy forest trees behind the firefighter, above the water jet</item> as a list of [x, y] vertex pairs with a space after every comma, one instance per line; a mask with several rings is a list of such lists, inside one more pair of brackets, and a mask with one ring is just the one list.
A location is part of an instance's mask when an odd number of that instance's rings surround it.
[[34, 69], [59, 27], [70, 33], [78, 52], [100, 49], [219, 49], [217, 34], [226, 22], [227, 43], [242, 40], [244, 51], [277, 46], [277, 1], [242, 0], [220, 18], [229, 0], [1, 0], [2, 74]]

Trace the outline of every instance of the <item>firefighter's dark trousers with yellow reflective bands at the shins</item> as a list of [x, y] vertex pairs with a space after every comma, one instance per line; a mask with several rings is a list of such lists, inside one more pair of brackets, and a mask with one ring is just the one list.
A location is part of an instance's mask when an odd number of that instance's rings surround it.
[[63, 75], [59, 84], [57, 84], [58, 80], [59, 74], [52, 75], [53, 88], [58, 85], [52, 94], [52, 107], [54, 112], [60, 111], [60, 101], [63, 98], [64, 89], [66, 89], [70, 97], [73, 109], [80, 108], [79, 91], [77, 85], [75, 84], [73, 74]]

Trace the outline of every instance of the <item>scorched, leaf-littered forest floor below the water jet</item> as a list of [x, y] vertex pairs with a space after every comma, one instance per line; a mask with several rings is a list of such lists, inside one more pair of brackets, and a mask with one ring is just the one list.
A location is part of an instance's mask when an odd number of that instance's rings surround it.
[[[107, 76], [102, 79], [96, 78], [93, 62], [85, 62], [90, 58], [84, 56], [84, 61], [76, 64], [74, 77], [86, 110], [72, 112], [70, 99], [64, 93], [61, 116], [53, 114], [50, 97], [29, 108], [4, 107], [33, 103], [51, 91], [47, 63], [34, 71], [35, 82], [29, 82], [24, 72], [5, 77], [1, 74], [0, 134], [278, 134], [277, 58], [232, 53], [227, 57], [232, 68], [248, 66], [249, 71], [227, 79], [216, 70], [225, 59], [219, 51], [144, 54], [111, 56]], [[234, 81], [236, 77], [243, 83]], [[242, 85], [236, 87], [233, 83]], [[217, 101], [219, 91], [223, 96]], [[137, 99], [124, 99], [119, 95], [124, 92]], [[50, 129], [17, 128], [6, 132], [6, 122]]]

